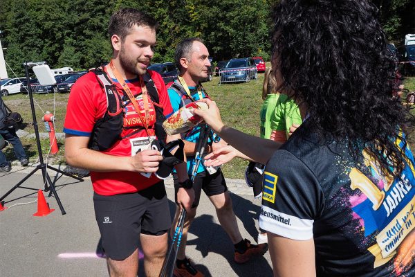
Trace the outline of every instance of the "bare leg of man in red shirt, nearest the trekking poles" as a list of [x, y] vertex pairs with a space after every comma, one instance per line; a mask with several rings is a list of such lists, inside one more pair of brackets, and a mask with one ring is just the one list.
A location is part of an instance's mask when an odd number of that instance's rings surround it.
[[142, 252], [144, 253], [144, 269], [147, 277], [156, 277], [167, 252], [167, 233], [163, 235], [140, 235]]

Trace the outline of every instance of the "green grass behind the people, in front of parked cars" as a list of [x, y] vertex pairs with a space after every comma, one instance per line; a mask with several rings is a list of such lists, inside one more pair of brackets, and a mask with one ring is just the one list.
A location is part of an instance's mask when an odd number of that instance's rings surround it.
[[[269, 66], [269, 64], [267, 64]], [[262, 105], [261, 89], [264, 82], [264, 74], [258, 74], [258, 80], [252, 80], [248, 83], [241, 84], [218, 84], [219, 77], [214, 77], [212, 82], [203, 83], [203, 87], [208, 91], [210, 97], [215, 100], [221, 110], [223, 122], [236, 129], [252, 134], [259, 135], [259, 109]], [[415, 78], [406, 78], [405, 88], [409, 91], [415, 91]], [[49, 95], [34, 95], [35, 111], [39, 132], [46, 132], [42, 116], [44, 111], [48, 110], [55, 114], [56, 132], [62, 132], [64, 118], [66, 114], [66, 103], [68, 102], [69, 94], [57, 93]], [[53, 105], [55, 98], [55, 107]], [[29, 98], [23, 94], [6, 96], [3, 98], [8, 107], [13, 111], [18, 111], [24, 118], [26, 123], [32, 121], [32, 114], [30, 111]], [[24, 131], [33, 133], [33, 125], [28, 124]], [[37, 145], [34, 139], [22, 139], [24, 147], [28, 151], [30, 161], [37, 159]], [[64, 141], [58, 141], [59, 152], [55, 155], [54, 161], [64, 161]], [[46, 157], [49, 150], [48, 140], [42, 140], [42, 152]], [[4, 150], [3, 150], [4, 151]], [[6, 149], [6, 157], [8, 159], [15, 159], [12, 157], [12, 149]], [[230, 163], [223, 166], [225, 177], [242, 179], [245, 172], [247, 161], [241, 159], [234, 159]]]

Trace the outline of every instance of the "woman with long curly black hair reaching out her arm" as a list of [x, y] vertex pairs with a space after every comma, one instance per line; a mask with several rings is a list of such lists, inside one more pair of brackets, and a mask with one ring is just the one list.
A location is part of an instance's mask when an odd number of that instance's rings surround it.
[[284, 145], [223, 125], [210, 100], [194, 111], [239, 150], [207, 164], [266, 163], [259, 226], [275, 276], [415, 276], [415, 162], [404, 135], [414, 120], [392, 97], [377, 13], [369, 0], [273, 8], [278, 90], [304, 120]]

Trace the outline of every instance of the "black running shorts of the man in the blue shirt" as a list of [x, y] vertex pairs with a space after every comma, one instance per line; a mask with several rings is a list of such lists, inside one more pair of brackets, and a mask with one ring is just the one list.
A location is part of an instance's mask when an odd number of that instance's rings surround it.
[[[192, 178], [189, 176], [189, 178]], [[178, 190], [178, 177], [177, 174], [173, 174], [174, 188], [176, 190], [175, 199], [177, 204], [177, 190]], [[219, 168], [214, 174], [210, 175], [206, 171], [202, 171], [196, 175], [193, 182], [194, 189], [194, 204], [192, 207], [199, 205], [201, 199], [201, 191], [203, 190], [206, 195], [220, 195], [228, 190], [226, 186], [225, 177], [223, 177], [222, 171]]]

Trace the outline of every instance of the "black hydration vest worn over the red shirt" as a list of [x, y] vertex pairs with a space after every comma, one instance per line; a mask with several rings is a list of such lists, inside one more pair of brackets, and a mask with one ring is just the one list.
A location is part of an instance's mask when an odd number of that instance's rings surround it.
[[[102, 69], [95, 69], [93, 72], [98, 80], [98, 84], [100, 84], [100, 87], [102, 87], [107, 96], [107, 110], [105, 111], [104, 116], [95, 122], [88, 147], [92, 150], [104, 151], [111, 148], [114, 143], [120, 141], [120, 139], [124, 139], [121, 136], [123, 129], [122, 98], [117, 91], [116, 84], [112, 82], [105, 71]], [[145, 87], [154, 104], [154, 109], [156, 109], [154, 131], [156, 132], [157, 139], [160, 143], [163, 143], [167, 136], [163, 128], [165, 116], [163, 114], [163, 106], [158, 104], [160, 99], [158, 98], [156, 86], [154, 85], [153, 80], [151, 80], [148, 72], [145, 75], [141, 75], [140, 78], [143, 78]], [[145, 129], [145, 127], [138, 127], [135, 129], [137, 129], [138, 132], [141, 129]], [[135, 133], [136, 132], [133, 132], [133, 134]]]

